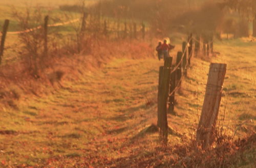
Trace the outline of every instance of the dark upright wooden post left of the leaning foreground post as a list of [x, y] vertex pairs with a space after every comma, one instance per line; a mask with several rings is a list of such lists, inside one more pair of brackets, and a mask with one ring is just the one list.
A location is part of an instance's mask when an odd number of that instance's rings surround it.
[[159, 127], [160, 141], [167, 144], [168, 141], [168, 122], [167, 122], [167, 100], [170, 86], [170, 66], [173, 58], [167, 58], [164, 66], [159, 68], [159, 85], [158, 85], [158, 110], [157, 125]]

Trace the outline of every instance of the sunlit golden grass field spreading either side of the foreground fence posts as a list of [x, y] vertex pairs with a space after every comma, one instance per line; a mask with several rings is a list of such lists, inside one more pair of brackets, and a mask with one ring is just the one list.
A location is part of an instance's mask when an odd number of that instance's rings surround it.
[[[238, 130], [235, 137], [242, 138], [255, 131], [256, 71], [255, 67], [241, 68], [255, 66], [255, 46], [247, 39], [216, 42], [220, 55], [203, 58], [207, 61], [191, 60], [188, 76], [176, 94], [176, 115], [168, 114], [173, 129], [168, 146], [195, 137], [209, 61], [227, 63], [219, 114], [221, 119], [225, 111], [224, 133], [233, 135]], [[180, 47], [177, 45], [173, 55]], [[157, 120], [162, 64], [156, 58], [122, 58], [89, 71], [80, 58], [72, 63], [79, 73], [65, 76], [65, 88], [46, 86], [41, 95], [22, 95], [13, 108], [2, 106], [1, 166], [139, 166], [136, 158], [146, 160], [160, 147], [158, 133], [147, 133], [145, 128]], [[253, 167], [255, 146], [251, 149], [252, 154], [233, 166]], [[160, 162], [167, 164], [168, 160], [161, 158]]]

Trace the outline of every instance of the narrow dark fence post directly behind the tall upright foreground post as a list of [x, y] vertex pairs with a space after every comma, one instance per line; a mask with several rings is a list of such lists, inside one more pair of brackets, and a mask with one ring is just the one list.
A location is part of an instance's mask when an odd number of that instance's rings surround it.
[[[173, 65], [173, 68], [175, 68], [175, 65]], [[174, 101], [175, 101], [175, 82], [176, 82], [176, 70], [170, 74], [170, 91], [169, 93], [172, 93], [169, 95], [169, 107], [168, 107], [168, 113], [174, 114]]]

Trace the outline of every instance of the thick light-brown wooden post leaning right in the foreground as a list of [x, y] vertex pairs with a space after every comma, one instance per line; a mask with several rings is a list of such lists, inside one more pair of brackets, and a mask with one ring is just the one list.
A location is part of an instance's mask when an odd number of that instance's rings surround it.
[[203, 149], [211, 145], [215, 139], [226, 66], [226, 64], [217, 63], [210, 65], [202, 113], [197, 128], [197, 142], [202, 145]]

